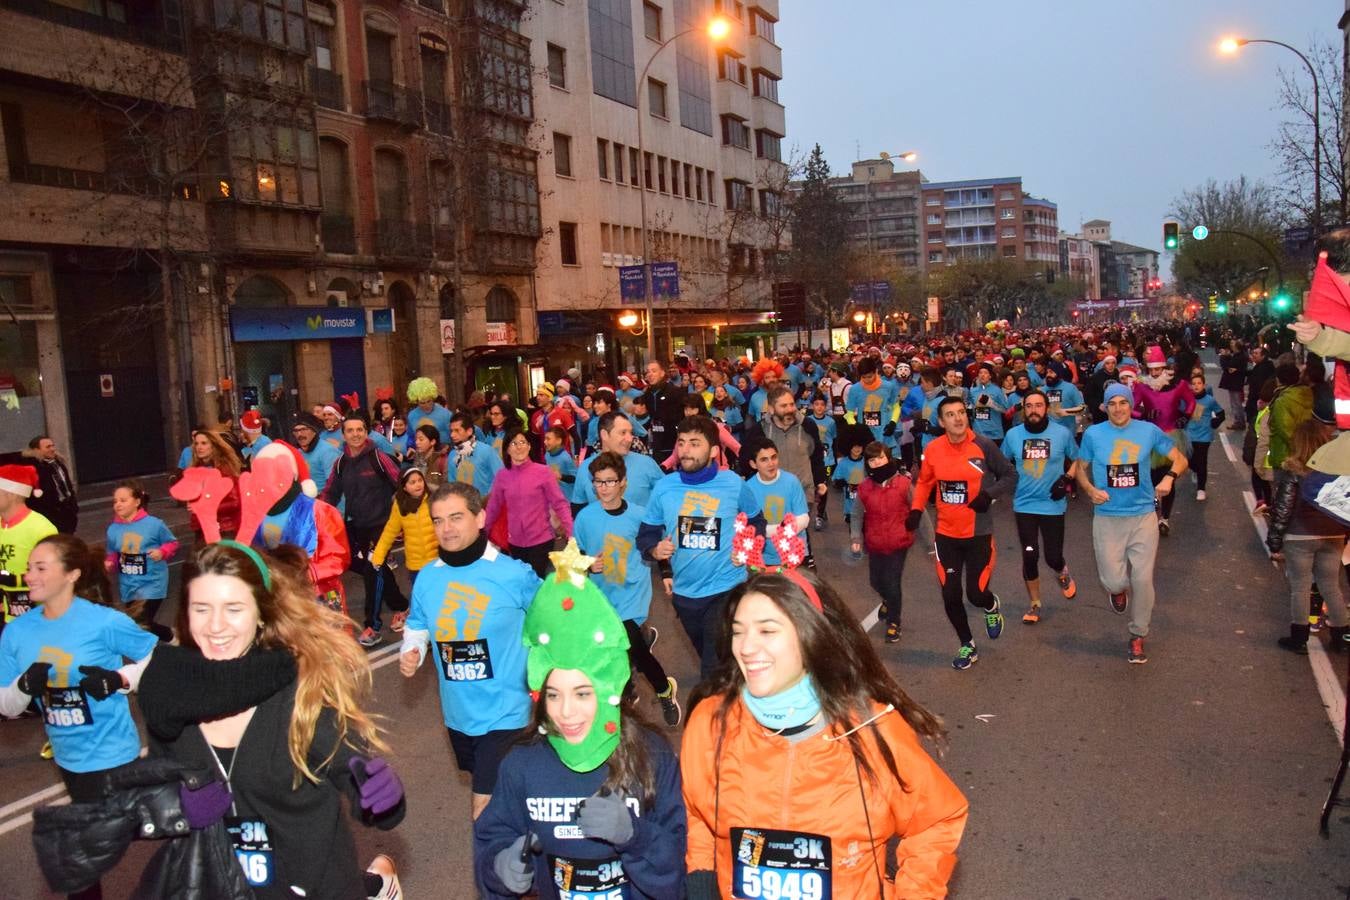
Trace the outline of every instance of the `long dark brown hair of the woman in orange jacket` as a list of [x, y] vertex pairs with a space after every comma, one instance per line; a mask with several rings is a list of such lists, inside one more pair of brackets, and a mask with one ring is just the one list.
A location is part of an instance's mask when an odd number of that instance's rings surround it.
[[[821, 712], [828, 726], [853, 729], [857, 723], [875, 715], [873, 703], [888, 703], [905, 716], [905, 721], [919, 735], [934, 741], [938, 745], [937, 749], [941, 750], [946, 737], [942, 721], [914, 702], [900, 688], [838, 594], [806, 572], [798, 572], [798, 575], [815, 588], [821, 598], [819, 610], [807, 599], [801, 586], [778, 572], [751, 578], [726, 600], [717, 629], [718, 658], [725, 661], [711, 677], [694, 690], [690, 699], [691, 710], [699, 700], [721, 699], [713, 714], [717, 729], [716, 754], [718, 762], [722, 754], [722, 738], [726, 734], [726, 715], [740, 700], [741, 688], [745, 687], [741, 668], [732, 657], [732, 622], [736, 619], [736, 610], [747, 594], [763, 594], [792, 622], [796, 638], [802, 645], [802, 664], [815, 683], [815, 694], [819, 698]], [[909, 787], [895, 764], [895, 756], [882, 739], [875, 723], [848, 734], [849, 749], [853, 752], [853, 760], [859, 769], [876, 784], [876, 773], [868, 764], [863, 748], [861, 735], [864, 731], [872, 734], [887, 769], [899, 781], [900, 788], [907, 791]]]

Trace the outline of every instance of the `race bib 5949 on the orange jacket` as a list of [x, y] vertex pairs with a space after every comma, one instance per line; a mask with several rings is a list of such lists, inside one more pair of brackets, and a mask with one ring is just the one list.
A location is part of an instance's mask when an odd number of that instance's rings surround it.
[[732, 896], [828, 900], [830, 839], [819, 834], [732, 828]]

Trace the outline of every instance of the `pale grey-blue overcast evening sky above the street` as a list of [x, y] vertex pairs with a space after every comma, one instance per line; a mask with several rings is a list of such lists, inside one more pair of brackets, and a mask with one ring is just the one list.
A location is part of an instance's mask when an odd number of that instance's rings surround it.
[[[1342, 0], [782, 0], [788, 147], [836, 174], [887, 150], [930, 181], [1021, 175], [1060, 228], [1108, 219], [1161, 248], [1172, 200], [1207, 178], [1272, 181], [1272, 46], [1339, 46]], [[1323, 117], [1328, 113], [1323, 111]]]

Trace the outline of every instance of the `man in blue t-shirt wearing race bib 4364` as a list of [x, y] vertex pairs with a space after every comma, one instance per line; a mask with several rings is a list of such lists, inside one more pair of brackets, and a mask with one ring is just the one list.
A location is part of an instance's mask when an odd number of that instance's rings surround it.
[[717, 623], [726, 595], [745, 580], [745, 569], [732, 561], [736, 515], [745, 513], [760, 530], [764, 519], [745, 482], [713, 460], [718, 434], [711, 418], [690, 416], [675, 434], [679, 468], [652, 490], [637, 546], [644, 559], [671, 561], [671, 600], [706, 679], [718, 664]]

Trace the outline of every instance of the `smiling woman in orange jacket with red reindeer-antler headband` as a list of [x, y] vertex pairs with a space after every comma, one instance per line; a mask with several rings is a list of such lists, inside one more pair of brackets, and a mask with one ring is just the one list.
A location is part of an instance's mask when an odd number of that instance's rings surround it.
[[838, 595], [756, 575], [721, 626], [733, 658], [695, 694], [680, 753], [690, 900], [945, 897], [967, 801], [921, 743], [941, 722]]

